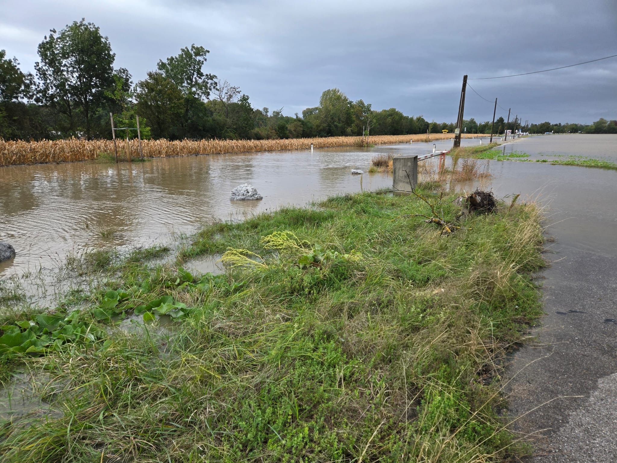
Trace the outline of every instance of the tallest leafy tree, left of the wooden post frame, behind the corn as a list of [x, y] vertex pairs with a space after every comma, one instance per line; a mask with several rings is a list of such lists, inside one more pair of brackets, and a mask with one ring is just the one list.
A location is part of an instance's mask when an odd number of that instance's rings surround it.
[[91, 116], [104, 101], [105, 91], [114, 85], [115, 54], [109, 39], [82, 19], [60, 33], [52, 29], [39, 44], [38, 54], [39, 101], [68, 117], [71, 134], [76, 128], [75, 109], [80, 109], [84, 134], [91, 138]]

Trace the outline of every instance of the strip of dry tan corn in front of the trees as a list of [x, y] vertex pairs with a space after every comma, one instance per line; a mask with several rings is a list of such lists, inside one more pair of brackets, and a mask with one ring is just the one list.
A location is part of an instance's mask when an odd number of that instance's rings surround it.
[[[463, 135], [471, 138], [478, 135]], [[452, 133], [431, 133], [429, 140], [447, 140]], [[371, 144], [404, 143], [409, 140], [426, 141], [426, 135], [375, 135]], [[125, 159], [125, 141], [118, 140], [118, 158]], [[362, 146], [360, 136], [330, 136], [324, 138], [291, 138], [288, 140], [142, 140], [144, 157], [187, 156], [189, 154], [222, 154], [251, 151], [287, 151], [334, 146]], [[130, 141], [131, 156], [139, 156], [137, 140]], [[72, 162], [96, 159], [99, 152], [114, 152], [112, 140], [43, 140], [4, 141], [0, 138], [0, 165], [39, 164], [43, 162]]]

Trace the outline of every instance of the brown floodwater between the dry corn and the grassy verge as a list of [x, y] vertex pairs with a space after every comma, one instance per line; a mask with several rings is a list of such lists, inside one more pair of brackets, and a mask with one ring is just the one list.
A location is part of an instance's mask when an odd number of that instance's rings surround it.
[[[478, 140], [465, 140], [479, 143]], [[437, 142], [449, 149], [452, 141]], [[433, 144], [405, 152], [423, 154]], [[17, 250], [7, 270], [57, 265], [84, 247], [131, 247], [170, 241], [201, 223], [241, 218], [285, 204], [303, 205], [331, 194], [391, 186], [368, 170], [371, 157], [391, 146], [331, 148], [174, 157], [128, 164], [77, 162], [0, 169], [0, 241]], [[262, 201], [230, 201], [230, 191], [252, 183]]]

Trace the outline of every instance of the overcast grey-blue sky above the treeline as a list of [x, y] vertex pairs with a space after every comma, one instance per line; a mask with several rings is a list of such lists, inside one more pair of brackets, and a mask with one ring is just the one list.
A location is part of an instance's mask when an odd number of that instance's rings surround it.
[[[82, 17], [101, 27], [137, 81], [192, 43], [206, 70], [254, 107], [301, 114], [337, 87], [373, 109], [455, 120], [463, 74], [531, 72], [617, 54], [616, 0], [165, 1], [0, 0], [0, 49], [33, 72], [49, 29]], [[617, 119], [617, 58], [528, 76], [470, 80], [497, 117]], [[465, 119], [492, 118], [468, 89]]]

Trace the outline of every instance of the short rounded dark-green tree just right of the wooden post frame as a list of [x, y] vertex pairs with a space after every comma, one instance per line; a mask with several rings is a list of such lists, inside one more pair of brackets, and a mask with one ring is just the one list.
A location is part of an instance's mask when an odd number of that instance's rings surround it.
[[175, 127], [184, 114], [184, 97], [162, 72], [150, 71], [136, 86], [138, 114], [149, 121], [154, 138], [178, 138]]

